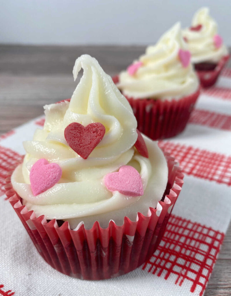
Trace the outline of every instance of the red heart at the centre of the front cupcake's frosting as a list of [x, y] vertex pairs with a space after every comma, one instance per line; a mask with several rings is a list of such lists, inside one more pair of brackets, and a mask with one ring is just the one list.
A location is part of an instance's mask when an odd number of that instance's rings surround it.
[[68, 145], [82, 158], [87, 159], [105, 134], [105, 127], [100, 122], [83, 126], [78, 122], [70, 123], [64, 130]]

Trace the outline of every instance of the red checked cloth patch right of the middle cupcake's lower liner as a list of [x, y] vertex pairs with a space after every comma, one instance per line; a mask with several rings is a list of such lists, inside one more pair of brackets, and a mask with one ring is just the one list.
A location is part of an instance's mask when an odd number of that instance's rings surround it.
[[231, 131], [231, 116], [210, 112], [208, 110], [195, 109], [192, 111], [190, 123], [196, 123], [211, 128], [219, 128]]

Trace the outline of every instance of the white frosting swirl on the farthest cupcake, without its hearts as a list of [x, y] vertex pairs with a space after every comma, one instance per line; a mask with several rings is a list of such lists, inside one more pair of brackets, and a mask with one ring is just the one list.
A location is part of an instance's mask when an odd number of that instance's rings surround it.
[[192, 62], [218, 62], [228, 54], [227, 48], [222, 44], [219, 48], [214, 45], [214, 35], [217, 34], [217, 23], [209, 15], [207, 7], [200, 8], [192, 18], [192, 27], [202, 25], [199, 31], [186, 28], [182, 34], [187, 38], [189, 50], [192, 54]]

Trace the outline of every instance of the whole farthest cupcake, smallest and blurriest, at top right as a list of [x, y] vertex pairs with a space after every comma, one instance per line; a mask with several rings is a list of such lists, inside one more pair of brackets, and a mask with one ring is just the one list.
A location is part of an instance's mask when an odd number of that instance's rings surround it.
[[192, 55], [192, 63], [203, 87], [212, 86], [229, 59], [222, 37], [217, 33], [217, 24], [209, 15], [209, 9], [199, 9], [189, 28], [182, 30]]

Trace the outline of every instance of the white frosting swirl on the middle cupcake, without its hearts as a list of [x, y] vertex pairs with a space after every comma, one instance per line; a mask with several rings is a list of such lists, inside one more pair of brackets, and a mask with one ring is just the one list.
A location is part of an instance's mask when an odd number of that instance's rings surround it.
[[[198, 78], [190, 63], [183, 67], [179, 49], [187, 50], [180, 23], [176, 23], [157, 42], [139, 57], [143, 65], [134, 75], [123, 71], [117, 87], [124, 95], [135, 99], [179, 99], [198, 88]], [[137, 62], [137, 61], [134, 61]]]

